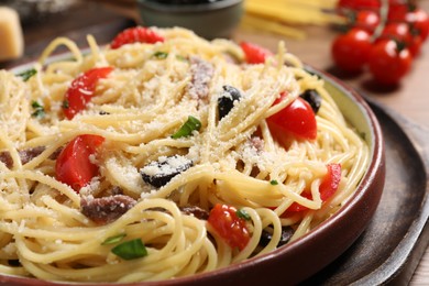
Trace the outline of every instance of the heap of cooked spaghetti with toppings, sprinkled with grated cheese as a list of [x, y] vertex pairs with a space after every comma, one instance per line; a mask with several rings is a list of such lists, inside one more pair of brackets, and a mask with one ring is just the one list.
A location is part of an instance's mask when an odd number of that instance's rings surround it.
[[[233, 42], [152, 31], [163, 41], [112, 48], [88, 36], [86, 52], [57, 38], [30, 78], [0, 72], [1, 274], [128, 283], [210, 272], [299, 239], [355, 190], [369, 147], [283, 43], [246, 64]], [[59, 45], [69, 58], [51, 61]], [[321, 98], [316, 138], [286, 142], [270, 118], [306, 90]], [[231, 217], [213, 220], [237, 220], [237, 244], [210, 219], [217, 206]]]

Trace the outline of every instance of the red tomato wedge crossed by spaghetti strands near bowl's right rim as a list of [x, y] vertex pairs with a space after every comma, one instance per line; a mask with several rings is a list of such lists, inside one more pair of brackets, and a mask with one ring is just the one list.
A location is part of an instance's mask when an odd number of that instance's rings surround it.
[[[332, 197], [333, 194], [336, 194], [341, 180], [340, 164], [337, 163], [328, 164], [327, 168], [328, 168], [328, 173], [324, 175], [323, 180], [319, 186], [320, 199], [322, 200], [322, 202], [327, 201], [330, 197]], [[311, 199], [310, 191], [305, 190], [304, 194], [301, 194], [301, 196], [307, 199]], [[290, 205], [290, 207], [287, 208], [287, 210], [284, 213], [282, 213], [280, 217], [286, 218], [294, 212], [298, 212], [307, 209], [308, 209], [307, 207], [294, 202]]]

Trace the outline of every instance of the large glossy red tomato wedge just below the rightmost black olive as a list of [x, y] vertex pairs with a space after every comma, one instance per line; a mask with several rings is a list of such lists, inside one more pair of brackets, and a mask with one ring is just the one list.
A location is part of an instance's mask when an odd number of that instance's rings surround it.
[[[283, 92], [274, 105], [279, 103], [287, 95]], [[293, 139], [315, 140], [317, 122], [310, 105], [302, 98], [297, 98], [290, 105], [266, 119], [273, 136], [285, 147]]]

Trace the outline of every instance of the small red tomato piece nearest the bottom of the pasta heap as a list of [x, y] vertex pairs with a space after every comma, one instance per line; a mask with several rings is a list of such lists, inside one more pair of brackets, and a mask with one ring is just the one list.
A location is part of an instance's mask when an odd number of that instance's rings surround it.
[[248, 245], [250, 234], [245, 220], [237, 216], [234, 207], [216, 204], [207, 221], [232, 249], [243, 250]]

